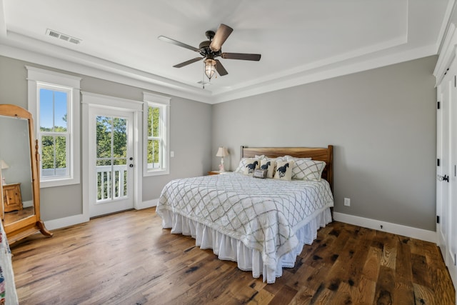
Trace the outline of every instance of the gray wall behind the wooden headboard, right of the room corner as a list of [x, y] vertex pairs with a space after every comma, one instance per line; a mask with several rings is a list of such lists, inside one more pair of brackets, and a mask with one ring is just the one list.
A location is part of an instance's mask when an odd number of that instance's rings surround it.
[[335, 211], [435, 231], [436, 61], [216, 104], [213, 146], [229, 147], [233, 170], [241, 145], [333, 144]]

